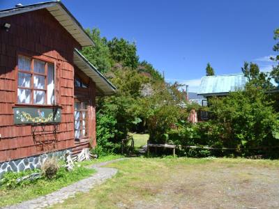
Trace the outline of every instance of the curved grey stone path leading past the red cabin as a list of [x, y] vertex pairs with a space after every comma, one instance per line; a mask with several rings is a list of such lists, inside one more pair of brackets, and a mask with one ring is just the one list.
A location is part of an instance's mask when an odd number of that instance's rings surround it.
[[56, 192], [52, 192], [51, 194], [47, 194], [45, 196], [40, 196], [37, 199], [33, 199], [30, 201], [24, 201], [22, 203], [6, 206], [1, 209], [33, 209], [33, 208], [45, 208], [52, 206], [56, 203], [63, 203], [69, 197], [75, 196], [77, 192], [89, 192], [90, 189], [100, 185], [108, 178], [112, 178], [117, 173], [117, 169], [114, 168], [106, 168], [102, 167], [106, 164], [110, 164], [112, 162], [117, 162], [121, 159], [110, 160], [107, 162], [100, 162], [98, 164], [94, 164], [90, 166], [92, 169], [96, 169], [97, 173], [94, 173], [93, 176], [89, 178], [85, 178], [83, 180], [74, 183], [73, 185], [69, 185], [67, 187], [63, 187]]

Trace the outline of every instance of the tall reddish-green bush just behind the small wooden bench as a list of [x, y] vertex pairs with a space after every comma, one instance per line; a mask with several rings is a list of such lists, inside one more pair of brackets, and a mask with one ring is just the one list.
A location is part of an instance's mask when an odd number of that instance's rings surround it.
[[186, 121], [189, 111], [185, 95], [179, 91], [179, 84], [160, 83], [149, 98], [147, 115], [150, 141], [170, 143], [167, 133], [181, 121]]

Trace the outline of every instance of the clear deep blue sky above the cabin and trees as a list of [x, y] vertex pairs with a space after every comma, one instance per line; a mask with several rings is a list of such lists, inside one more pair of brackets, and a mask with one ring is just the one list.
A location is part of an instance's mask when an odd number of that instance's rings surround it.
[[[40, 1], [40, 0], [38, 0]], [[0, 9], [36, 0], [0, 0]], [[273, 30], [279, 27], [278, 0], [62, 0], [85, 28], [98, 27], [108, 39], [137, 43], [169, 82], [195, 91], [209, 62], [217, 75], [241, 72], [244, 61], [269, 70]]]

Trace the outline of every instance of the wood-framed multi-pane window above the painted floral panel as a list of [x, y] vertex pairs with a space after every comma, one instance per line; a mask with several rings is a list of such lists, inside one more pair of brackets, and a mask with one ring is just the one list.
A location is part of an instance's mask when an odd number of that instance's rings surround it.
[[54, 63], [18, 57], [17, 103], [54, 104]]

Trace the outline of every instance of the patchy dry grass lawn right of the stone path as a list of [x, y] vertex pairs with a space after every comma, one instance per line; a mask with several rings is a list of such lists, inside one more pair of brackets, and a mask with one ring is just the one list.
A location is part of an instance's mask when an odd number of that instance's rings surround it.
[[53, 208], [279, 208], [279, 161], [131, 158], [119, 173]]

